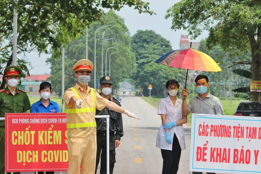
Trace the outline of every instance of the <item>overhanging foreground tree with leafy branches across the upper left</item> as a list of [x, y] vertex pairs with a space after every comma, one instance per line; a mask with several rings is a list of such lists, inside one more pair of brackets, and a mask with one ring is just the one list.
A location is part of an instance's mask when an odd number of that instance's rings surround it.
[[[102, 19], [104, 11], [109, 8], [120, 10], [124, 5], [134, 6], [139, 13], [154, 14], [149, 10], [149, 3], [139, 0], [18, 0], [0, 1], [0, 70], [12, 63], [12, 34], [13, 34], [13, 8], [18, 14], [17, 53], [38, 51], [39, 55], [47, 53], [51, 45], [55, 58], [61, 55], [61, 48], [68, 44], [71, 38], [84, 34], [86, 26]], [[108, 21], [109, 22], [109, 21]], [[6, 41], [4, 43], [3, 41]], [[28, 61], [18, 60], [18, 65], [24, 73], [29, 75]], [[30, 67], [30, 66], [29, 66]], [[2, 71], [0, 72], [3, 75]], [[23, 77], [23, 76], [22, 76]], [[4, 80], [0, 88], [4, 88]]]

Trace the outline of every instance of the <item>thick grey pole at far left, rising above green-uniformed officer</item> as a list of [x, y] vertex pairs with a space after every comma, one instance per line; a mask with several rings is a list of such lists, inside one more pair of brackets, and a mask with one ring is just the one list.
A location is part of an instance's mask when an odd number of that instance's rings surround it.
[[[16, 3], [16, 0], [14, 1]], [[17, 13], [14, 7], [14, 28], [13, 28], [13, 65], [17, 66]]]

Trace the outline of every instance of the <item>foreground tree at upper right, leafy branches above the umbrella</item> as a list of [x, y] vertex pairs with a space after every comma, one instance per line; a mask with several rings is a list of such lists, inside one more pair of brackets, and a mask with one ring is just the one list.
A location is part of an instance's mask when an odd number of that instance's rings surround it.
[[[183, 28], [195, 39], [203, 30], [209, 32], [208, 48], [220, 45], [230, 57], [251, 53], [251, 59], [233, 64], [249, 64], [252, 80], [260, 80], [261, 71], [261, 1], [204, 1], [182, 0], [167, 10], [166, 19], [172, 18], [172, 29]], [[252, 92], [253, 101], [258, 95]]]

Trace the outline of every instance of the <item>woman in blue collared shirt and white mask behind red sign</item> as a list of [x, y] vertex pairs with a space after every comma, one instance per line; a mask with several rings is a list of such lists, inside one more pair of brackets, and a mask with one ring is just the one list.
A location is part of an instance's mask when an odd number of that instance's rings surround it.
[[[49, 99], [50, 95], [52, 94], [52, 85], [44, 81], [40, 84], [39, 93], [41, 99], [32, 104], [30, 113], [59, 113], [60, 107], [59, 104], [53, 102]], [[35, 172], [36, 173], [36, 172]], [[44, 174], [44, 172], [38, 172], [38, 174]], [[54, 172], [46, 172], [46, 174], [54, 174]]]

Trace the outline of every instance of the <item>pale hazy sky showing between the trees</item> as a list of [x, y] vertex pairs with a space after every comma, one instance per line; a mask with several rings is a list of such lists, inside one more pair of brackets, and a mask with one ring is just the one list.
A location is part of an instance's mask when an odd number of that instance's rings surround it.
[[[125, 6], [120, 11], [115, 11], [120, 17], [125, 19], [125, 24], [128, 27], [131, 36], [133, 36], [137, 30], [154, 30], [157, 34], [171, 41], [173, 50], [179, 49], [180, 35], [187, 35], [188, 32], [184, 30], [171, 30], [171, 19], [164, 19], [166, 10], [170, 8], [178, 0], [144, 0], [150, 2], [150, 10], [154, 11], [157, 15], [139, 14], [138, 10], [134, 7]], [[109, 9], [104, 9], [107, 12]], [[189, 40], [192, 42], [199, 42], [208, 36], [208, 33], [204, 31], [201, 36], [197, 37], [196, 40]], [[190, 37], [190, 36], [189, 36]], [[88, 42], [88, 44], [94, 44]], [[17, 55], [21, 58], [22, 55]], [[31, 75], [49, 74], [50, 65], [46, 65], [46, 59], [50, 55], [41, 54], [39, 57], [38, 52], [31, 52], [26, 54], [27, 59], [32, 64]]]

